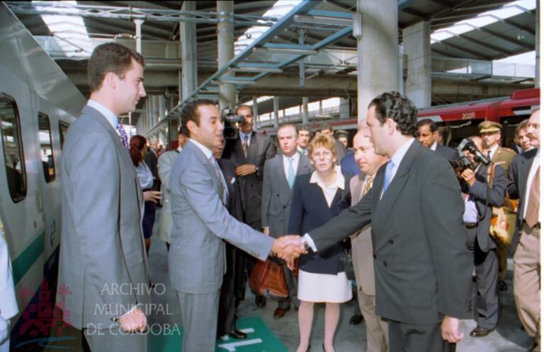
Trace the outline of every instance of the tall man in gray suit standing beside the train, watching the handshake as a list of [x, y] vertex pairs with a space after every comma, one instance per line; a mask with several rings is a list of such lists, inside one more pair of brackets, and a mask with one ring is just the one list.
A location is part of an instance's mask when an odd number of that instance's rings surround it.
[[[149, 274], [142, 189], [118, 115], [145, 96], [144, 59], [107, 43], [89, 59], [91, 97], [62, 149], [62, 237], [58, 288], [64, 321], [92, 351], [147, 351]], [[125, 144], [125, 145], [123, 145]]]

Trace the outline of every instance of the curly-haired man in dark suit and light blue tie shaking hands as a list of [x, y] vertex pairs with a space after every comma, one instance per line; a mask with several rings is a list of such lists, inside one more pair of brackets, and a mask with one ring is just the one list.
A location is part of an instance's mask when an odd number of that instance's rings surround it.
[[366, 132], [390, 160], [350, 209], [302, 237], [322, 252], [372, 222], [375, 314], [388, 319], [390, 351], [442, 351], [471, 316], [472, 260], [453, 168], [415, 141], [417, 110], [399, 93], [368, 107]]

